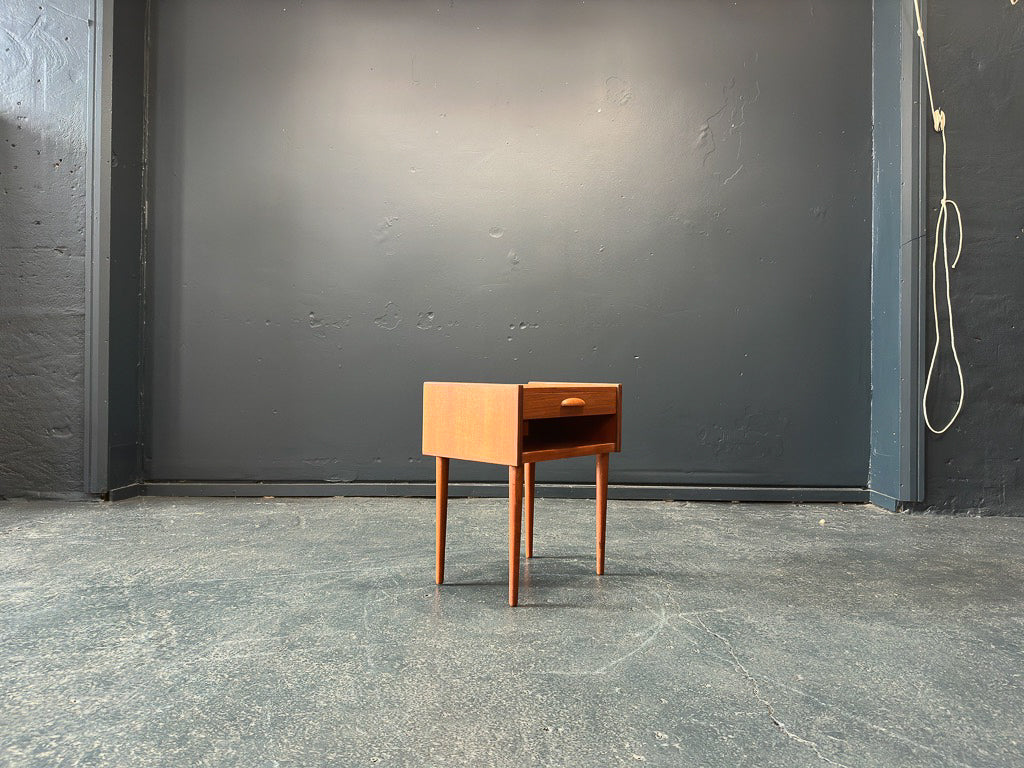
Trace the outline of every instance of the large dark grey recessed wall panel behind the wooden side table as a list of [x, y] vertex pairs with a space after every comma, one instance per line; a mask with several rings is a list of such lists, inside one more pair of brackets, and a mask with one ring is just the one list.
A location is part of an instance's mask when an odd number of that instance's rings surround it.
[[425, 479], [423, 380], [579, 379], [616, 481], [864, 485], [870, 2], [155, 5], [150, 478]]

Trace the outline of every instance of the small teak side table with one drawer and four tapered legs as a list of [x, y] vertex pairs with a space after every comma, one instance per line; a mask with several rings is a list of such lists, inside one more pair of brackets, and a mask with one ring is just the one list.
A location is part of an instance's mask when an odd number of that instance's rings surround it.
[[449, 460], [509, 468], [509, 605], [519, 602], [523, 483], [526, 557], [534, 556], [534, 465], [597, 457], [597, 572], [604, 572], [608, 454], [622, 450], [623, 385], [530, 382], [423, 384], [423, 453], [436, 457], [434, 578], [444, 582]]

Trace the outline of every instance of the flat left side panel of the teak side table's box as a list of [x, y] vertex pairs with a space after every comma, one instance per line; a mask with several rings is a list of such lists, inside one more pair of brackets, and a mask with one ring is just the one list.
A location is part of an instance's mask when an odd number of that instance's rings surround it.
[[520, 384], [425, 382], [423, 453], [518, 465], [521, 414]]

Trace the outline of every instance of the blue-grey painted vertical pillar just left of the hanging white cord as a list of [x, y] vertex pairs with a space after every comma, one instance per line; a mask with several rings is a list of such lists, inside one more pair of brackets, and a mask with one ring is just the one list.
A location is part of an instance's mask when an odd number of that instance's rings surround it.
[[871, 442], [867, 487], [887, 509], [924, 499], [918, 403], [925, 255], [922, 68], [913, 0], [874, 0]]

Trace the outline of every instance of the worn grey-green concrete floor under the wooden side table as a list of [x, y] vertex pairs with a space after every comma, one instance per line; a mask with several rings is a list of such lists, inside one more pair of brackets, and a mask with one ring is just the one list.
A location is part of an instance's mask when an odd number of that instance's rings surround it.
[[[0, 765], [1024, 765], [1024, 519], [0, 503]], [[822, 523], [823, 521], [823, 523]]]

